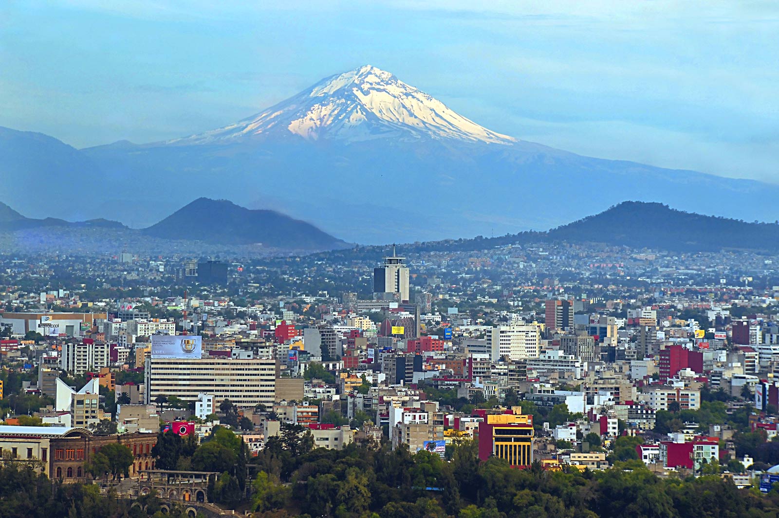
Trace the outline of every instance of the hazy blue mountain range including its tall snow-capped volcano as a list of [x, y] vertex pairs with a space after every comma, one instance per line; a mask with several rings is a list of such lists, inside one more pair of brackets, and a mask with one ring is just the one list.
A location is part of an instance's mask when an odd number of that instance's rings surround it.
[[323, 79], [235, 124], [167, 142], [78, 150], [3, 128], [0, 156], [0, 196], [35, 218], [140, 228], [207, 195], [315, 222], [355, 243], [548, 229], [626, 199], [774, 221], [779, 194], [774, 184], [589, 158], [500, 135], [371, 66]]

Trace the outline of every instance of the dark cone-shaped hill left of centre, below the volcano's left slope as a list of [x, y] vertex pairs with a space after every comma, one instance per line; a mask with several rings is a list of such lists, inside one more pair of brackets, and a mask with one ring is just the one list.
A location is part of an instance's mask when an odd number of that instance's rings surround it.
[[347, 243], [310, 223], [270, 210], [249, 210], [231, 201], [198, 198], [143, 229], [146, 235], [169, 240], [200, 240], [218, 244], [263, 243], [287, 250], [333, 250]]

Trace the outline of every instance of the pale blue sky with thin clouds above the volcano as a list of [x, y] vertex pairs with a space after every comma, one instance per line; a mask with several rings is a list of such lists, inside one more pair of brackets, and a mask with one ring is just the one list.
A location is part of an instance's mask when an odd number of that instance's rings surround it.
[[5, 0], [0, 125], [151, 142], [371, 64], [517, 138], [779, 183], [777, 2], [478, 5]]

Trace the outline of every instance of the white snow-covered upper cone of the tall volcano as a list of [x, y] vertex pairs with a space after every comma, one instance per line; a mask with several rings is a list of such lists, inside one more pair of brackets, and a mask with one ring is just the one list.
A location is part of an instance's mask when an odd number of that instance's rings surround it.
[[300, 135], [346, 142], [372, 138], [456, 138], [511, 144], [390, 72], [365, 65], [333, 75], [298, 95], [224, 128], [167, 144], [227, 143], [260, 135]]

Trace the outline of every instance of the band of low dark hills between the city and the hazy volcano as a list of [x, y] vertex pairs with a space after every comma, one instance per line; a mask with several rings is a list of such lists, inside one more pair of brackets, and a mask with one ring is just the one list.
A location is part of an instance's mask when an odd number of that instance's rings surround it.
[[[407, 243], [404, 253], [489, 250], [527, 243], [605, 243], [636, 249], [683, 251], [756, 250], [779, 252], [779, 224], [743, 222], [693, 214], [660, 203], [625, 201], [600, 214], [549, 229], [498, 237]], [[307, 254], [326, 251], [354, 259], [382, 247], [352, 247], [309, 223], [231, 201], [199, 198], [145, 229], [119, 222], [25, 218], [0, 203], [0, 248], [69, 250], [88, 254], [123, 250], [136, 254]], [[339, 250], [332, 252], [330, 250]], [[386, 252], [386, 250], [384, 250]]]

